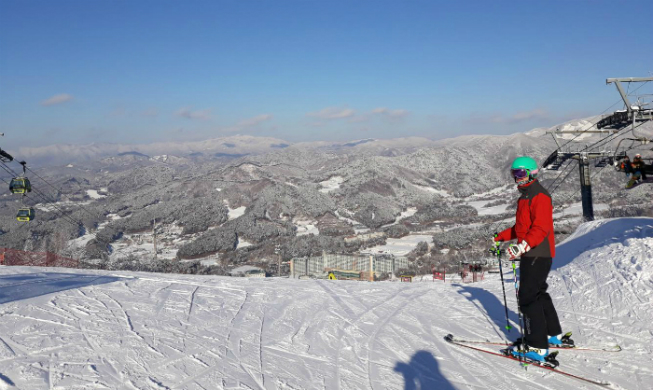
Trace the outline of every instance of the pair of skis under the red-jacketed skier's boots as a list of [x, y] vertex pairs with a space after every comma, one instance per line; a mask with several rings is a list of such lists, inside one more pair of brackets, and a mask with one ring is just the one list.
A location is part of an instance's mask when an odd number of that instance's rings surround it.
[[[520, 363], [531, 364], [533, 366], [542, 368], [544, 370], [549, 370], [551, 372], [556, 372], [558, 374], [561, 374], [561, 375], [564, 375], [564, 376], [567, 376], [567, 377], [570, 377], [570, 378], [578, 379], [578, 380], [586, 382], [586, 383], [591, 383], [591, 384], [601, 386], [601, 387], [604, 387], [604, 388], [610, 386], [610, 382], [590, 379], [590, 378], [587, 378], [587, 377], [583, 377], [583, 376], [580, 376], [580, 375], [572, 374], [570, 372], [566, 372], [566, 371], [562, 371], [562, 370], [557, 369], [556, 367], [558, 366], [558, 364], [557, 364], [558, 362], [555, 360], [555, 357], [557, 356], [558, 351], [554, 351], [554, 352], [550, 353], [548, 361], [539, 362], [539, 361], [529, 360], [529, 359], [524, 359], [524, 358], [521, 358], [521, 360], [520, 360], [519, 358], [512, 356], [508, 352], [507, 349], [502, 350], [501, 352], [494, 352], [494, 351], [488, 351], [488, 350], [485, 350], [485, 349], [478, 348], [478, 347], [474, 346], [474, 344], [485, 344], [485, 345], [501, 345], [501, 346], [507, 347], [510, 344], [506, 343], [506, 342], [484, 341], [484, 340], [464, 340], [464, 339], [456, 338], [452, 334], [446, 335], [444, 339], [447, 342], [449, 342], [451, 344], [454, 344], [456, 346], [459, 346], [459, 347], [468, 348], [468, 349], [471, 349], [471, 350], [474, 350], [474, 351], [483, 352], [483, 353], [487, 353], [487, 354], [490, 354], [490, 355], [500, 356], [500, 357], [503, 357], [503, 358], [506, 358], [506, 359], [518, 361]], [[552, 348], [552, 347], [549, 347], [549, 348]], [[621, 347], [618, 346], [618, 345], [605, 346], [605, 347], [587, 347], [587, 348], [586, 347], [562, 347], [562, 348], [559, 348], [559, 349], [573, 349], [573, 350], [578, 350], [578, 351], [600, 351], [600, 352], [619, 352], [619, 351], [621, 351]]]

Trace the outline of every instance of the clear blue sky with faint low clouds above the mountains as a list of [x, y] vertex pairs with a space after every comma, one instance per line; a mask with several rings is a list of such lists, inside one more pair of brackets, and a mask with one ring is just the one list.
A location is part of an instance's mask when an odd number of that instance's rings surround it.
[[651, 14], [650, 0], [0, 0], [0, 145], [527, 131], [601, 113], [619, 100], [607, 77], [652, 75]]

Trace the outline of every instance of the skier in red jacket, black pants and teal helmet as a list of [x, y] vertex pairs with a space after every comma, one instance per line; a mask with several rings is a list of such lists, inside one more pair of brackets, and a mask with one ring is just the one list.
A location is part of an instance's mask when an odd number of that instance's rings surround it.
[[[495, 237], [495, 241], [517, 240], [508, 248], [510, 260], [521, 258], [519, 266], [519, 309], [524, 318], [524, 339], [510, 349], [515, 357], [544, 361], [549, 344], [572, 344], [570, 334], [563, 335], [558, 314], [546, 292], [546, 278], [555, 256], [553, 205], [551, 195], [536, 179], [537, 162], [517, 157], [510, 169], [521, 193], [515, 225]], [[547, 337], [548, 335], [548, 337]]]

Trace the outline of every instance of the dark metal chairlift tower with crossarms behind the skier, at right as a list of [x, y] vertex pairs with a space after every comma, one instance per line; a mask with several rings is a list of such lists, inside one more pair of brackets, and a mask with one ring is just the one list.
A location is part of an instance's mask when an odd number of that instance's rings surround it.
[[[646, 107], [649, 104], [642, 103], [637, 101], [637, 104], [632, 104], [628, 98], [628, 93], [624, 92], [623, 86], [621, 83], [638, 83], [638, 82], [649, 82], [653, 81], [653, 77], [625, 77], [625, 78], [609, 78], [606, 79], [606, 84], [614, 83], [617, 87], [617, 91], [621, 95], [621, 98], [624, 101], [625, 109], [617, 110], [612, 114], [605, 115], [596, 123], [596, 130], [566, 130], [561, 131], [557, 129], [556, 131], [550, 132], [553, 135], [553, 139], [558, 145], [558, 149], [553, 152], [545, 161], [542, 166], [547, 170], [557, 171], [563, 163], [569, 159], [578, 160], [578, 167], [580, 173], [580, 192], [581, 199], [583, 203], [583, 218], [586, 221], [594, 220], [594, 206], [592, 203], [592, 183], [590, 180], [590, 161], [598, 159], [596, 166], [604, 167], [608, 164], [615, 164], [618, 160], [621, 160], [625, 156], [618, 155], [619, 145], [614, 151], [611, 150], [602, 150], [597, 152], [588, 151], [588, 147], [581, 149], [580, 151], [562, 151], [562, 146], [558, 142], [556, 135], [562, 134], [606, 134], [606, 137], [616, 134], [619, 131], [632, 126], [631, 131], [635, 137], [633, 140], [640, 141], [642, 143], [649, 143], [650, 139], [642, 136], [637, 136], [635, 134], [635, 128], [637, 122], [647, 122], [653, 120], [653, 108]], [[620, 142], [621, 143], [621, 142]]]

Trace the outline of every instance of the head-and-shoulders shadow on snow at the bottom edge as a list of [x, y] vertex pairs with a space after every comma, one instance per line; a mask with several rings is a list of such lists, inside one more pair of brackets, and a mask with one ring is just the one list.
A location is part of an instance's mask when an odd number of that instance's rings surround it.
[[455, 387], [442, 376], [438, 361], [428, 351], [415, 352], [410, 362], [398, 362], [394, 370], [404, 376], [404, 390], [455, 390]]

